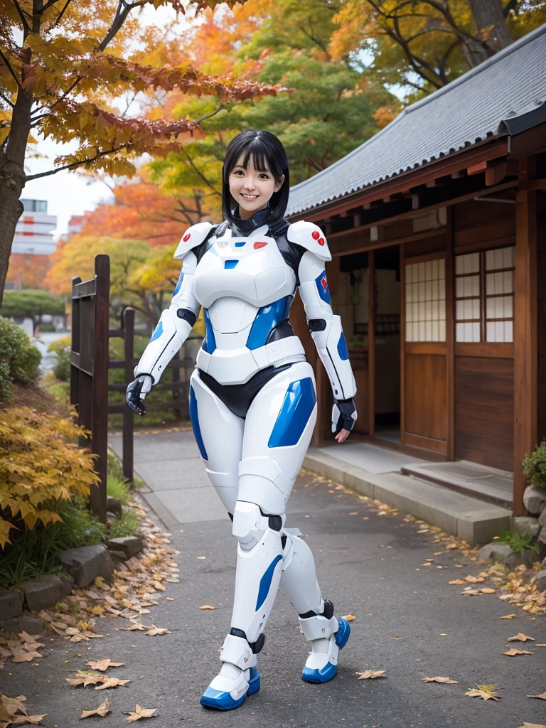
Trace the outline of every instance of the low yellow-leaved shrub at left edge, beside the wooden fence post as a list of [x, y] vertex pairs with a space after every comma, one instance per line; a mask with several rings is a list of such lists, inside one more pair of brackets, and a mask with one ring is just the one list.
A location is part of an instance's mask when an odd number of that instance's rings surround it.
[[[84, 434], [71, 419], [28, 407], [2, 412], [0, 422], [0, 548], [11, 529], [62, 521], [55, 503], [88, 496], [98, 484], [94, 456], [76, 445]], [[17, 526], [14, 521], [19, 523]], [[24, 524], [24, 525], [23, 525]]]

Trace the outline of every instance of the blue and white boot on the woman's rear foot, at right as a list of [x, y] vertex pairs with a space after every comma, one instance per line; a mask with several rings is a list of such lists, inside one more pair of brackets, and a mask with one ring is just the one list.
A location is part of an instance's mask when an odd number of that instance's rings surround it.
[[322, 614], [300, 617], [299, 625], [311, 642], [311, 652], [301, 677], [306, 682], [325, 683], [336, 676], [339, 650], [347, 644], [351, 628], [343, 617], [333, 616], [333, 604], [325, 600]]

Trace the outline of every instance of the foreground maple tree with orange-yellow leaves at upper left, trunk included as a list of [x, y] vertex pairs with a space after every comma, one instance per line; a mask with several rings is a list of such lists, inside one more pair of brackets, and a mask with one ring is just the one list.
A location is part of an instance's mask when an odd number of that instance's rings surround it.
[[[232, 6], [235, 0], [226, 0]], [[245, 2], [245, 0], [240, 0]], [[218, 0], [194, 0], [196, 12]], [[25, 183], [79, 167], [110, 175], [135, 173], [131, 160], [180, 151], [203, 136], [199, 119], [174, 121], [130, 117], [115, 100], [129, 90], [243, 100], [279, 89], [227, 76], [207, 76], [187, 60], [177, 66], [143, 63], [135, 9], [153, 6], [184, 12], [182, 0], [3, 0], [0, 13], [0, 302], [4, 292], [15, 225], [23, 211]], [[108, 50], [107, 50], [108, 49]], [[25, 152], [33, 135], [77, 143], [44, 173], [25, 173]]]

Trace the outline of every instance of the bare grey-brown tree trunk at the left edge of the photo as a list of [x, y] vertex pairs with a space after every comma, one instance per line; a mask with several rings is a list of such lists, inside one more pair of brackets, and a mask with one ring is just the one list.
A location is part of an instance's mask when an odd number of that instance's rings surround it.
[[20, 89], [13, 109], [6, 151], [0, 149], [0, 306], [4, 298], [15, 226], [23, 213], [20, 197], [25, 186], [25, 150], [31, 130], [31, 107], [32, 95]]

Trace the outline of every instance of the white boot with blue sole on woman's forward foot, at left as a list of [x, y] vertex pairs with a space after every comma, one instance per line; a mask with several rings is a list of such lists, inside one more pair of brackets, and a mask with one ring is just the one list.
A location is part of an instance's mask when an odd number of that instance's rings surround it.
[[228, 635], [220, 652], [223, 662], [220, 673], [203, 693], [201, 705], [217, 711], [239, 708], [247, 697], [260, 689], [256, 654], [242, 637]]

